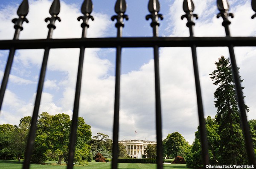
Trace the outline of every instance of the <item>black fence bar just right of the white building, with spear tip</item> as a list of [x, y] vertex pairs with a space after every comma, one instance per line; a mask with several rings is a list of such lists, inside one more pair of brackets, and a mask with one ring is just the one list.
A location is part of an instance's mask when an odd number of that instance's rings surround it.
[[[158, 0], [149, 0], [148, 11], [151, 13], [146, 16], [146, 20], [151, 18], [151, 27], [153, 28], [153, 37], [158, 37], [158, 27], [160, 18], [163, 15], [158, 14], [160, 4]], [[155, 75], [155, 99], [156, 99], [156, 131], [157, 131], [157, 169], [163, 169], [163, 144], [162, 144], [162, 115], [161, 115], [161, 96], [160, 96], [160, 73], [159, 73], [159, 47], [154, 46], [154, 75]]]

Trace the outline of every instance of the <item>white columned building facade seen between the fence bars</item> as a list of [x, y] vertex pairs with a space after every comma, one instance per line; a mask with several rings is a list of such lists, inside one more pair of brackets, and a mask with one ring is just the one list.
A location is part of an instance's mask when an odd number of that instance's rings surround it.
[[148, 144], [157, 144], [155, 141], [145, 140], [122, 140], [118, 143], [125, 146], [126, 153], [131, 158], [141, 158], [142, 155], [145, 155], [145, 148]]

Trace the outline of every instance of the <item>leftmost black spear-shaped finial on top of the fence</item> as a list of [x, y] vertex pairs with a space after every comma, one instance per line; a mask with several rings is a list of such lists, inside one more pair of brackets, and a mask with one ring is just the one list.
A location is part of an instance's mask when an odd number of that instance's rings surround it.
[[29, 2], [28, 0], [23, 0], [22, 3], [20, 4], [18, 10], [17, 10], [17, 15], [19, 18], [15, 18], [12, 20], [12, 23], [14, 23], [14, 28], [20, 29], [20, 31], [23, 30], [22, 24], [25, 21], [26, 23], [29, 23], [29, 20], [27, 20], [26, 16], [29, 13]]

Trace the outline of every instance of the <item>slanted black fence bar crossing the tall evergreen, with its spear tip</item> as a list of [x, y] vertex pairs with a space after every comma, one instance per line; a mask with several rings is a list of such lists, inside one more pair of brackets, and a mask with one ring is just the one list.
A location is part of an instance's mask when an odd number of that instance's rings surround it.
[[[217, 15], [217, 18], [222, 17], [223, 22], [222, 26], [225, 28], [226, 36], [230, 37], [230, 29], [229, 25], [231, 22], [228, 20], [228, 17], [233, 18], [234, 15], [232, 13], [227, 13], [229, 10], [229, 4], [227, 0], [217, 0], [217, 6], [218, 10], [220, 13]], [[253, 6], [253, 2], [252, 2]], [[236, 56], [234, 52], [234, 46], [233, 45], [228, 45], [228, 50], [230, 53], [230, 61], [231, 61], [231, 67], [232, 67], [232, 72], [233, 72], [233, 79], [234, 83], [236, 86], [236, 96], [237, 96], [237, 101], [239, 104], [239, 110], [241, 114], [241, 124], [242, 124], [242, 129], [243, 129], [243, 134], [244, 134], [244, 140], [245, 140], [245, 146], [246, 146], [246, 151], [247, 151], [247, 156], [250, 164], [256, 165], [256, 159], [254, 155], [254, 150], [253, 150], [253, 144], [252, 144], [252, 138], [250, 135], [250, 127], [247, 121], [247, 115], [246, 115], [246, 110], [245, 110], [245, 104], [244, 104], [244, 96], [241, 88], [241, 82], [240, 82], [240, 76], [239, 76], [239, 70], [236, 65]]]

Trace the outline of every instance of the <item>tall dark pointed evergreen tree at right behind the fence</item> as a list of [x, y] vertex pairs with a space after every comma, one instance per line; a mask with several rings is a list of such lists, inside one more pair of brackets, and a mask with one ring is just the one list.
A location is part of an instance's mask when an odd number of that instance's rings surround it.
[[[217, 108], [216, 122], [220, 125], [220, 163], [243, 164], [247, 158], [230, 59], [221, 56], [215, 65], [216, 70], [210, 74], [210, 78], [218, 86], [214, 93], [214, 103]], [[241, 77], [240, 80], [243, 81]], [[246, 109], [248, 111], [247, 106]]]

